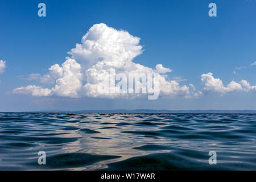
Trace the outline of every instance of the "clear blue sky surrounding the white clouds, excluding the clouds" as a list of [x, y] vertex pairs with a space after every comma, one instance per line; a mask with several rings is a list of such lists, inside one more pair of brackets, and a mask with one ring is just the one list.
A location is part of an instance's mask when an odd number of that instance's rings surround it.
[[[44, 2], [47, 16], [38, 16]], [[208, 5], [217, 5], [217, 17], [209, 17]], [[201, 75], [209, 72], [223, 85], [241, 80], [256, 85], [256, 1], [1, 1], [0, 111], [94, 109], [254, 109], [253, 89], [204, 92], [200, 97], [92, 98], [35, 97], [13, 90], [38, 85], [28, 75], [46, 75], [61, 65], [68, 51], [97, 23], [126, 30], [141, 38], [143, 53], [133, 62], [172, 69], [169, 80], [182, 77], [181, 86], [193, 84], [202, 91]], [[179, 80], [179, 79], [178, 79]], [[256, 89], [255, 89], [256, 90]], [[208, 90], [209, 91], [209, 90]]]

